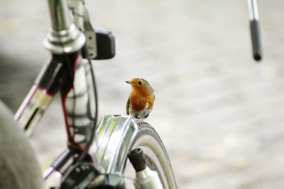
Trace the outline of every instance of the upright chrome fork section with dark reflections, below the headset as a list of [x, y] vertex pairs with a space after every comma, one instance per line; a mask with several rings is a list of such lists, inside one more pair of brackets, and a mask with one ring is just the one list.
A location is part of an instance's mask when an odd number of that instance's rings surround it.
[[82, 57], [77, 58], [77, 67], [75, 71], [73, 87], [67, 93], [62, 105], [67, 113], [65, 123], [68, 125], [68, 134], [76, 145], [86, 147], [92, 135], [92, 127], [94, 126], [94, 86], [89, 74], [91, 71], [84, 67]]

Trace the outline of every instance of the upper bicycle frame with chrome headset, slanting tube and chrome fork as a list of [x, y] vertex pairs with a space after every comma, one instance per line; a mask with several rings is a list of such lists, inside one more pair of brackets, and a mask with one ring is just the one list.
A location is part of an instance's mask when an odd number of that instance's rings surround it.
[[[88, 138], [84, 135], [89, 130], [86, 127], [91, 127], [94, 119], [86, 109], [88, 101], [94, 103], [88, 91], [94, 86], [87, 81], [86, 70], [82, 67], [82, 47], [86, 39], [72, 23], [66, 1], [48, 0], [48, 4], [52, 28], [44, 45], [52, 53], [52, 58], [43, 67], [15, 118], [30, 135], [55, 93], [60, 91], [70, 145], [84, 150]], [[94, 104], [89, 106], [94, 107]]]

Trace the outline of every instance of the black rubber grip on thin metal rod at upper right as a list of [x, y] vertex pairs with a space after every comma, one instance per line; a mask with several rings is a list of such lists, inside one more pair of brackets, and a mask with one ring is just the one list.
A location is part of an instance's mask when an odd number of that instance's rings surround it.
[[250, 23], [251, 28], [251, 43], [253, 47], [253, 58], [257, 61], [261, 60], [261, 34], [259, 31], [259, 23], [257, 20], [252, 20]]

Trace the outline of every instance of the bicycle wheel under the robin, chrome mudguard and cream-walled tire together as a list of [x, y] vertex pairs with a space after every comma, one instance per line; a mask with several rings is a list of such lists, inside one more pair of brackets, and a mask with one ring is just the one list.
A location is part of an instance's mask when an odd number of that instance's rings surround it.
[[141, 148], [148, 167], [158, 172], [165, 189], [177, 188], [173, 168], [167, 151], [157, 132], [147, 122], [133, 119], [131, 115], [106, 115], [97, 126], [97, 148], [90, 151], [97, 155], [98, 163], [107, 175], [124, 177], [126, 188], [133, 188], [135, 170], [127, 155], [132, 149]]

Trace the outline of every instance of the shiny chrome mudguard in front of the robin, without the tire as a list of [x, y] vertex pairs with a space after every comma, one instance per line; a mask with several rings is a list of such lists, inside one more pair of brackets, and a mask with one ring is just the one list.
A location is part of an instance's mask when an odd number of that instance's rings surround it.
[[131, 115], [104, 116], [97, 127], [97, 155], [105, 173], [122, 172], [138, 132]]

